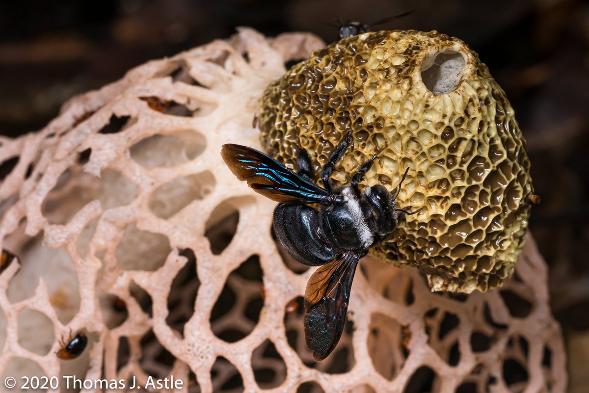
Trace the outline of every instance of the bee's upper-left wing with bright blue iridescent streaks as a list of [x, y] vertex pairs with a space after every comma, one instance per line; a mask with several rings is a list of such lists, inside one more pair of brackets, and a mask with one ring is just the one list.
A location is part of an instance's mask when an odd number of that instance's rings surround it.
[[247, 181], [254, 191], [275, 202], [314, 204], [332, 200], [325, 188], [256, 149], [226, 144], [221, 148], [221, 156], [238, 179]]

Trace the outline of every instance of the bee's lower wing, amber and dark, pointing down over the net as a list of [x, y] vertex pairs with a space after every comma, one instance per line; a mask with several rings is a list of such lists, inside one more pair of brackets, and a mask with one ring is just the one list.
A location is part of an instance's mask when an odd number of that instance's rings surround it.
[[316, 361], [325, 359], [342, 336], [359, 259], [360, 255], [345, 252], [318, 268], [307, 283], [305, 339]]

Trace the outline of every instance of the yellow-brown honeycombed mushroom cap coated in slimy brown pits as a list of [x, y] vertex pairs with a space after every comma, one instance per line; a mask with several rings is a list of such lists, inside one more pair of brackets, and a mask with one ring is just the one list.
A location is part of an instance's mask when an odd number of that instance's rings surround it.
[[[435, 291], [487, 291], [513, 272], [533, 191], [525, 141], [505, 92], [460, 39], [381, 31], [317, 49], [267, 88], [259, 112], [266, 152], [316, 169], [352, 131], [339, 172], [378, 158], [365, 185], [394, 189], [406, 216], [370, 250], [424, 271]], [[318, 180], [318, 178], [316, 179]]]

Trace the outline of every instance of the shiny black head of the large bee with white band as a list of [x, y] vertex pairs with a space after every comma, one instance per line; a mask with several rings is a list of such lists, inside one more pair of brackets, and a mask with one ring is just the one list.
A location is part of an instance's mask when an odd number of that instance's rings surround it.
[[395, 197], [380, 184], [366, 188], [362, 194], [362, 211], [370, 229], [381, 237], [391, 234], [402, 212], [397, 211]]

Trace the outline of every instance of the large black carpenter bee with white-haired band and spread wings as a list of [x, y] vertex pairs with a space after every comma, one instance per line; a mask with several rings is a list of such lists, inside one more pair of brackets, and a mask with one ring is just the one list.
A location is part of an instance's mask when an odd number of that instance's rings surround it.
[[359, 259], [385, 240], [405, 214], [413, 214], [395, 204], [409, 168], [395, 195], [382, 185], [360, 191], [359, 183], [376, 156], [358, 167], [349, 186], [332, 185], [333, 169], [351, 141], [349, 132], [327, 159], [321, 171], [323, 187], [313, 183], [305, 149], [297, 156], [297, 173], [246, 146], [227, 144], [221, 149], [238, 179], [280, 202], [274, 210], [274, 231], [284, 249], [302, 264], [320, 266], [307, 283], [304, 299], [307, 348], [316, 361], [325, 359], [342, 335]]

